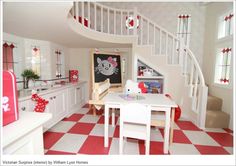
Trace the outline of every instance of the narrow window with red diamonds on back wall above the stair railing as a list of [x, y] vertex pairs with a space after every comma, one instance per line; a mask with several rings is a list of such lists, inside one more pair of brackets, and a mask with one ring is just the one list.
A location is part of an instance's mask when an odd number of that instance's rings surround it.
[[189, 46], [191, 35], [191, 16], [181, 14], [178, 16], [177, 36], [184, 40], [184, 44]]

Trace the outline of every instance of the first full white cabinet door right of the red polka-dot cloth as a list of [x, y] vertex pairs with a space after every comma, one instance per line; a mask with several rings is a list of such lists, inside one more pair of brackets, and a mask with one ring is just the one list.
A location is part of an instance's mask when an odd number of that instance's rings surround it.
[[61, 120], [66, 116], [66, 108], [67, 108], [67, 91], [62, 90], [57, 92], [53, 96], [54, 104], [55, 104], [55, 118], [57, 121]]

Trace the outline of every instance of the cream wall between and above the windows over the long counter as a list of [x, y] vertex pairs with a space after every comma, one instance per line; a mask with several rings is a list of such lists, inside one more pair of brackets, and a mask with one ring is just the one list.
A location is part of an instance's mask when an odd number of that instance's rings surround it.
[[[44, 40], [29, 39], [13, 34], [3, 32], [3, 41], [8, 43], [13, 43], [17, 48], [14, 49], [14, 59], [16, 59], [17, 67], [14, 69], [14, 72], [17, 76], [17, 81], [22, 80], [21, 73], [26, 68], [31, 68], [31, 57], [32, 50], [31, 48], [37, 46], [40, 48], [40, 60], [41, 60], [41, 77], [40, 79], [54, 79], [56, 78], [56, 58], [55, 58], [55, 49], [62, 50], [64, 53], [64, 62], [63, 66], [63, 76], [68, 76], [68, 49], [65, 46], [58, 45]], [[36, 82], [36, 85], [39, 85], [40, 82]], [[23, 83], [18, 83], [18, 89], [23, 88]], [[29, 86], [33, 86], [30, 82]]]

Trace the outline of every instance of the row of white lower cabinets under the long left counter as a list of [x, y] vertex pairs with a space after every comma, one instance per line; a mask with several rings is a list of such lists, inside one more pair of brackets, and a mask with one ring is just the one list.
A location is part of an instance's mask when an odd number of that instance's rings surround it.
[[[51, 113], [52, 118], [43, 125], [46, 131], [64, 117], [68, 117], [78, 111], [85, 104], [85, 83], [73, 85], [68, 88], [58, 89], [45, 95], [40, 95], [43, 99], [49, 101], [45, 108], [45, 113]], [[33, 111], [36, 105], [31, 99], [20, 101], [20, 111]]]

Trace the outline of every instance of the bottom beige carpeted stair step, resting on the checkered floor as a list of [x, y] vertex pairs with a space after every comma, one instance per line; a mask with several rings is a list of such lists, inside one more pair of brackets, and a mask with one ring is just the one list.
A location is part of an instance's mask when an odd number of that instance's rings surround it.
[[206, 128], [228, 128], [230, 116], [223, 111], [206, 111]]

